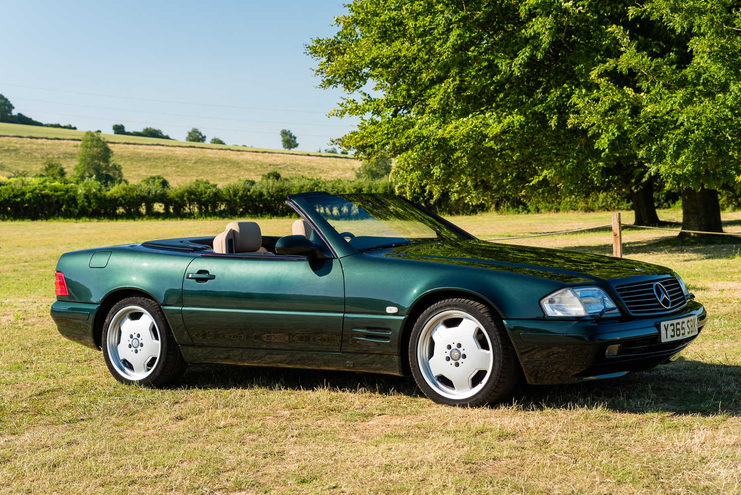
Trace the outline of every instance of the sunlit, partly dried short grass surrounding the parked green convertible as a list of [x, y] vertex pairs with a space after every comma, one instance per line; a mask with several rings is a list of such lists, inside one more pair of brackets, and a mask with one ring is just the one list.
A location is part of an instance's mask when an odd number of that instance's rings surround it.
[[[741, 231], [741, 213], [723, 219]], [[451, 220], [489, 239], [609, 214]], [[259, 220], [268, 235], [290, 222]], [[279, 368], [193, 365], [173, 388], [127, 387], [101, 353], [56, 332], [48, 309], [64, 251], [224, 225], [0, 224], [0, 494], [741, 492], [741, 239], [682, 246], [671, 233], [626, 229], [625, 256], [676, 269], [707, 306], [697, 341], [654, 371], [522, 385], [491, 408], [435, 405], [408, 378]], [[508, 242], [611, 250], [606, 230]]]

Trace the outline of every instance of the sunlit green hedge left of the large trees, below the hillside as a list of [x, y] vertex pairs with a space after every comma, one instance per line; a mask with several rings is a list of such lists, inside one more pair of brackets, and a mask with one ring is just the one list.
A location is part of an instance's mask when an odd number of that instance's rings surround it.
[[167, 181], [107, 187], [93, 179], [17, 177], [0, 179], [0, 219], [288, 216], [293, 210], [285, 205], [286, 196], [310, 190], [393, 193], [393, 183], [388, 179], [245, 179], [217, 187], [198, 179], [179, 187], [169, 187]]

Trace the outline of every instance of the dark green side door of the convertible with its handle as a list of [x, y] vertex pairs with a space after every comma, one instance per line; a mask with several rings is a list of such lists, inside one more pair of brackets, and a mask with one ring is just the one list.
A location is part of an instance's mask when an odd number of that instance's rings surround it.
[[199, 346], [339, 351], [338, 259], [207, 255], [183, 279], [183, 320]]

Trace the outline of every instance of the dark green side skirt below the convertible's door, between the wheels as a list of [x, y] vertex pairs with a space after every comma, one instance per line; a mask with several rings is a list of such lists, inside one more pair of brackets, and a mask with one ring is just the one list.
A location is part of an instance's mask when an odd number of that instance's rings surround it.
[[402, 376], [400, 356], [391, 354], [279, 351], [273, 349], [202, 348], [181, 345], [187, 362], [223, 365], [279, 366], [317, 370], [366, 371]]

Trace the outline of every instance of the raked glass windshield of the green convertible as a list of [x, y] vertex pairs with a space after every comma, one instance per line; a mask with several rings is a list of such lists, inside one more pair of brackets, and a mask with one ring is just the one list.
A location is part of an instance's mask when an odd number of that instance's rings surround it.
[[393, 194], [340, 194], [306, 200], [357, 250], [467, 239]]

